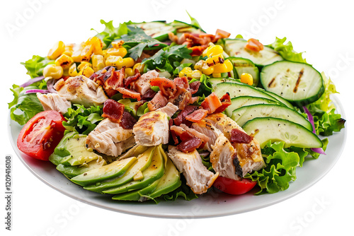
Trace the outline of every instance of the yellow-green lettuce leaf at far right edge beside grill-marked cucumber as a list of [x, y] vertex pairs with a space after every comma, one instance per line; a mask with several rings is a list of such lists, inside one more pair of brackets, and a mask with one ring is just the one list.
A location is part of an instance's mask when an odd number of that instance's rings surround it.
[[336, 86], [324, 73], [321, 75], [325, 86], [324, 94], [316, 102], [307, 105], [307, 109], [314, 117], [316, 134], [330, 136], [333, 132], [341, 131], [346, 120], [341, 118], [341, 114], [336, 113], [336, 107], [330, 98], [332, 94], [338, 93]]

